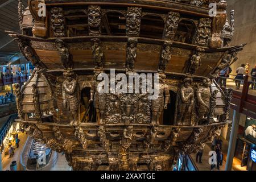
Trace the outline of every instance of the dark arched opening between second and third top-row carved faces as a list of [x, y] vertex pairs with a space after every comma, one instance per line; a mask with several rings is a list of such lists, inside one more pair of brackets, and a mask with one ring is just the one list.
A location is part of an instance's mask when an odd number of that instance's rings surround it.
[[101, 19], [101, 35], [125, 36], [126, 18], [118, 12], [108, 12]]

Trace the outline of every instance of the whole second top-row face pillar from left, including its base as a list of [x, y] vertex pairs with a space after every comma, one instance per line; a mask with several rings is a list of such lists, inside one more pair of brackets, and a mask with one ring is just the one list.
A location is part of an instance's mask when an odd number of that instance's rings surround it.
[[101, 7], [88, 6], [89, 35], [101, 34]]

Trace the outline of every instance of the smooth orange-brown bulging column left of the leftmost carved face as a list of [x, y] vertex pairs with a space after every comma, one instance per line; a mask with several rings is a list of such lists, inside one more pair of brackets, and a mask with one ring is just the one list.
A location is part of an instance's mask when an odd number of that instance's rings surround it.
[[28, 7], [35, 19], [34, 27], [32, 28], [33, 35], [39, 38], [46, 38], [46, 4], [44, 0], [28, 0]]

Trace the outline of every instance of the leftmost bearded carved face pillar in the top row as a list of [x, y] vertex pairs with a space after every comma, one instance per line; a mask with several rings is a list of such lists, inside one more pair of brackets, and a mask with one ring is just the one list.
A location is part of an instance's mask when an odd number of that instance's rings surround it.
[[63, 8], [53, 7], [51, 9], [51, 24], [55, 37], [59, 38], [65, 36], [65, 18]]

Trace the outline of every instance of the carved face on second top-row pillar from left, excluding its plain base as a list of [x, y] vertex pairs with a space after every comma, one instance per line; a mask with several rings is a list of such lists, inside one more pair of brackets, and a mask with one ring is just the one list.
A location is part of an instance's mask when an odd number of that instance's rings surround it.
[[101, 26], [101, 7], [89, 6], [88, 23], [90, 27]]

